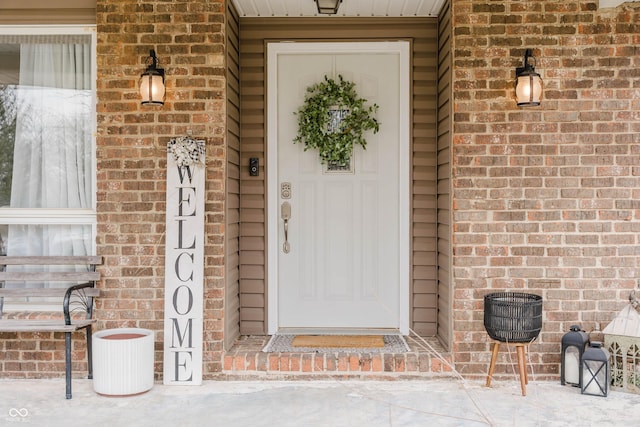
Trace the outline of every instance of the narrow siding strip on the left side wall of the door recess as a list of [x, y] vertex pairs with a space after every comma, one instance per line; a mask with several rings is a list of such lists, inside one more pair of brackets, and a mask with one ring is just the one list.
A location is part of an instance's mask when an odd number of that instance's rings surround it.
[[240, 335], [240, 35], [238, 14], [227, 3], [227, 177], [226, 291], [224, 344], [230, 348]]

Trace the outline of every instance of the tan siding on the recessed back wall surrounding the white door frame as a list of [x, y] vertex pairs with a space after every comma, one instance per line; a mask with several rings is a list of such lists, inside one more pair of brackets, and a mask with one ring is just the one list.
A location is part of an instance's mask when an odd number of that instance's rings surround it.
[[[435, 335], [437, 20], [435, 18], [241, 18], [241, 158], [264, 164], [265, 45], [267, 41], [412, 42], [412, 298], [411, 325]], [[266, 181], [242, 174], [240, 226], [240, 330], [266, 333]]]

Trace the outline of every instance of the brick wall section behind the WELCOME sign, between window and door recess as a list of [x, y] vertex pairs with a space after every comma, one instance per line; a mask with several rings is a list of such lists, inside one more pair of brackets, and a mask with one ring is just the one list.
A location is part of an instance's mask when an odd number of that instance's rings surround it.
[[[98, 328], [156, 335], [162, 372], [166, 143], [207, 143], [205, 375], [221, 369], [224, 296], [224, 1], [98, 0]], [[155, 49], [162, 107], [140, 105], [138, 79]]]

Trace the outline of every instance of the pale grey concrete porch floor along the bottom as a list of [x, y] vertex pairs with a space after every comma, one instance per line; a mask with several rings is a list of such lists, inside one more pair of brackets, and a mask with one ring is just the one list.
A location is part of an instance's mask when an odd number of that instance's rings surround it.
[[432, 380], [156, 383], [105, 397], [90, 380], [0, 379], [0, 425], [34, 426], [623, 426], [638, 425], [638, 395], [583, 396], [557, 382]]

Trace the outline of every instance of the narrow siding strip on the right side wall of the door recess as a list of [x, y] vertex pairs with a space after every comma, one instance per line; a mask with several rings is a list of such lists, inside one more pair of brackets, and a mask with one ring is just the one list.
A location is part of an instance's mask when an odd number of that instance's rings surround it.
[[438, 14], [438, 338], [449, 346], [451, 281], [451, 2]]

